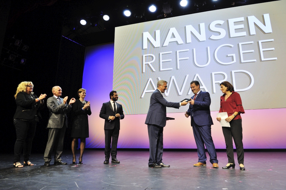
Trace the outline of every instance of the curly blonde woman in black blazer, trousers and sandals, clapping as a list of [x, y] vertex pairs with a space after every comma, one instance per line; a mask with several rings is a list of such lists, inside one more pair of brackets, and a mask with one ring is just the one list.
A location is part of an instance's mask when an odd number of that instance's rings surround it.
[[39, 120], [39, 117], [41, 117], [38, 109], [44, 104], [44, 99], [46, 98], [46, 94], [41, 94], [37, 97], [33, 93], [33, 88], [34, 85], [32, 82], [21, 82], [14, 95], [17, 104], [17, 109], [13, 118], [17, 136], [14, 146], [14, 166], [16, 168], [23, 167], [20, 163], [20, 154], [23, 148], [24, 165], [33, 166], [29, 161], [29, 157], [36, 131], [36, 123]]

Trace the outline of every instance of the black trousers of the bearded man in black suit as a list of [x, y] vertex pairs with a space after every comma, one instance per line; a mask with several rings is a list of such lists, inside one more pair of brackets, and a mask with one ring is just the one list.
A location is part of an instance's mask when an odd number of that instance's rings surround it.
[[119, 136], [119, 130], [116, 128], [116, 126], [114, 126], [113, 129], [105, 129], [104, 134], [105, 134], [105, 149], [104, 149], [105, 158], [109, 159], [111, 152], [111, 158], [115, 159], [117, 155], [117, 141]]

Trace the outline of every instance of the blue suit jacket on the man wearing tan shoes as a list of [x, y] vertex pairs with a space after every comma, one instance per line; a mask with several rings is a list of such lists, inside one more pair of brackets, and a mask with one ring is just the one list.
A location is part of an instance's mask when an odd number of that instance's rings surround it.
[[[194, 96], [192, 96], [192, 99], [194, 99]], [[189, 110], [187, 111], [188, 115], [191, 116], [191, 120], [194, 120], [195, 123], [199, 126], [213, 125], [210, 105], [211, 105], [210, 94], [208, 92], [200, 91], [200, 93], [196, 96], [194, 105], [190, 104]]]

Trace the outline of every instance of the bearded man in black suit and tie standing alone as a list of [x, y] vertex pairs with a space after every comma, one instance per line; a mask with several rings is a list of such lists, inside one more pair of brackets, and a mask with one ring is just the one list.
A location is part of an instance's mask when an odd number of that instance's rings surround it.
[[[109, 157], [111, 152], [111, 162], [120, 163], [116, 159], [117, 154], [117, 141], [120, 130], [120, 119], [124, 118], [122, 105], [116, 103], [118, 95], [116, 91], [109, 93], [110, 101], [102, 104], [99, 117], [105, 119], [104, 122], [104, 133], [105, 133], [105, 160], [104, 164], [109, 163]], [[112, 144], [111, 144], [112, 139]], [[110, 148], [111, 144], [111, 148]]]

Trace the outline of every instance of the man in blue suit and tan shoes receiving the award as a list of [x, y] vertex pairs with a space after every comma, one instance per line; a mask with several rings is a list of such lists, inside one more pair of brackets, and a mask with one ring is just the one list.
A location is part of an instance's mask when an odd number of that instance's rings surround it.
[[218, 168], [218, 160], [216, 159], [216, 148], [211, 137], [211, 96], [208, 92], [200, 90], [200, 83], [197, 80], [191, 82], [191, 90], [195, 94], [189, 101], [189, 110], [185, 113], [188, 118], [191, 116], [191, 126], [197, 144], [197, 154], [199, 157], [198, 163], [194, 166], [205, 166], [207, 157], [205, 155], [205, 147], [210, 156], [210, 162], [213, 168]]

